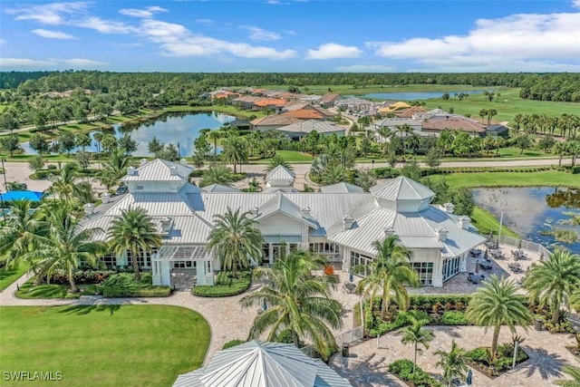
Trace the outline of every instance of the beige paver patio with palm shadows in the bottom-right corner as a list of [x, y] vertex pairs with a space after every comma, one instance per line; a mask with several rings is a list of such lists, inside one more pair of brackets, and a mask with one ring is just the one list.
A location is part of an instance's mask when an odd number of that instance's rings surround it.
[[[430, 344], [429, 350], [423, 350], [417, 356], [417, 363], [430, 373], [442, 374], [441, 369], [435, 365], [439, 358], [433, 352], [439, 348], [449, 351], [453, 339], [467, 350], [491, 345], [492, 331], [484, 334], [483, 328], [477, 326], [428, 326], [426, 329], [435, 333], [435, 340]], [[525, 338], [521, 347], [530, 359], [496, 379], [490, 379], [473, 370], [474, 387], [553, 386], [556, 385], [556, 379], [567, 378], [562, 372], [565, 364], [577, 365], [574, 355], [565, 349], [565, 345], [573, 343], [572, 334], [550, 334], [547, 331], [534, 330], [526, 333], [523, 329], [518, 329], [517, 334]], [[499, 343], [511, 343], [511, 340], [509, 330], [502, 328]], [[397, 359], [412, 359], [412, 346], [403, 345], [401, 336], [393, 332], [382, 336], [378, 343], [378, 348], [377, 339], [351, 346], [349, 357], [344, 358], [341, 353], [337, 353], [331, 364], [354, 386], [403, 386], [404, 384], [388, 372], [388, 364]]]

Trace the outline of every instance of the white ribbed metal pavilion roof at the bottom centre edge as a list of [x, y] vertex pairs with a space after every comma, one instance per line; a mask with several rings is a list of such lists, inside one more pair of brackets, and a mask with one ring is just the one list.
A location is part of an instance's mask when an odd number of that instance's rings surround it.
[[345, 387], [351, 384], [293, 344], [255, 340], [216, 353], [208, 367], [179, 375], [173, 387]]

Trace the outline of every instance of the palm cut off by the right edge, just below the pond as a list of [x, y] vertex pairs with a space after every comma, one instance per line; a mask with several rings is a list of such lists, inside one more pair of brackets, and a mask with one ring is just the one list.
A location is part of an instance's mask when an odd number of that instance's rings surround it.
[[556, 249], [547, 259], [530, 269], [524, 286], [531, 301], [549, 306], [552, 324], [556, 324], [560, 305], [564, 303], [569, 306], [568, 296], [580, 287], [580, 256]]

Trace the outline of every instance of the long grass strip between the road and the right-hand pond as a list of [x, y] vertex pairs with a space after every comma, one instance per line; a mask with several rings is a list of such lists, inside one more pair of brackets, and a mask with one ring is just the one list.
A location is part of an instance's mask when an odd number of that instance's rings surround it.
[[[439, 179], [433, 176], [432, 179]], [[478, 172], [445, 175], [451, 188], [460, 187], [570, 187], [580, 188], [580, 175], [559, 170], [539, 172]]]

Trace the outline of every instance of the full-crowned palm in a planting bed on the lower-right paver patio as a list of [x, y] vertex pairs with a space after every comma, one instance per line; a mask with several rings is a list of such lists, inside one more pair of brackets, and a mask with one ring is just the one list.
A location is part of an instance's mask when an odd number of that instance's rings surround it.
[[517, 285], [514, 281], [498, 279], [492, 275], [484, 282], [471, 298], [465, 316], [476, 325], [493, 327], [491, 353], [498, 351], [498, 337], [501, 325], [507, 325], [512, 334], [516, 333], [516, 325], [522, 325], [527, 331], [527, 325], [532, 322], [532, 315], [527, 309], [526, 297], [517, 294]]

